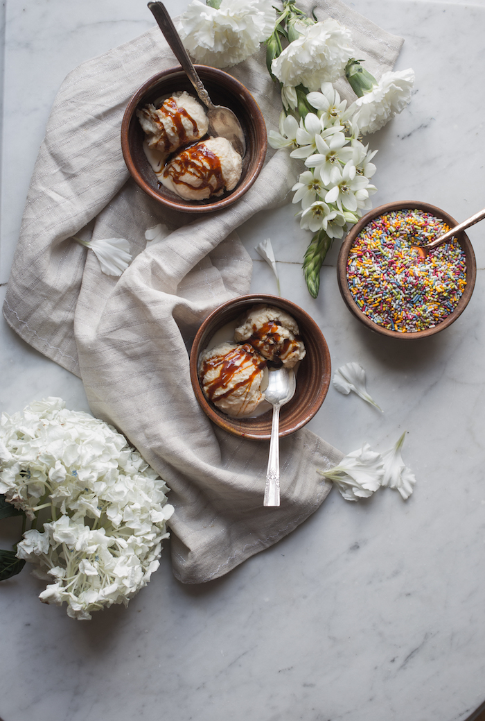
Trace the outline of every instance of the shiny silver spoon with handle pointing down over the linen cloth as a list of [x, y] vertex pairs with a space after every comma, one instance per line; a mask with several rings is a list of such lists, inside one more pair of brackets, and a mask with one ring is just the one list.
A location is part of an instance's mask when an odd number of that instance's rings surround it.
[[291, 401], [296, 389], [293, 368], [277, 368], [268, 373], [268, 387], [265, 397], [273, 406], [271, 440], [269, 443], [268, 470], [263, 505], [279, 505], [279, 411]]

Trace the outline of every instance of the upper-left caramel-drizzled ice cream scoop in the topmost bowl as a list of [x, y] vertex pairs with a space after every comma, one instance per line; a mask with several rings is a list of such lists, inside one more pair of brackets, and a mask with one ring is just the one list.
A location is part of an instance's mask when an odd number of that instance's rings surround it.
[[159, 108], [145, 105], [137, 110], [137, 117], [148, 150], [163, 156], [203, 138], [209, 128], [204, 108], [185, 90], [168, 97]]

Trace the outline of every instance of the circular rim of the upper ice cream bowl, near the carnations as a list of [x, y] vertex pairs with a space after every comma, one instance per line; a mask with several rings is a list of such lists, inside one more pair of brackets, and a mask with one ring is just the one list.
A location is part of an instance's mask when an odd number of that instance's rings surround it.
[[[248, 107], [248, 115], [253, 118], [255, 125], [264, 128], [266, 131], [266, 123], [263, 118], [263, 113], [261, 112], [258, 103], [253, 97], [253, 94], [251, 94], [251, 92], [248, 90], [247, 87], [245, 87], [245, 85], [243, 85], [243, 83], [237, 80], [234, 76], [226, 73], [223, 70], [220, 70], [219, 68], [212, 68], [211, 66], [207, 65], [195, 65], [194, 67], [196, 68], [199, 76], [201, 76], [201, 79], [203, 80], [213, 81], [214, 76], [215, 78], [224, 77], [225, 79], [229, 79], [230, 84], [232, 84], [232, 87], [234, 88], [234, 93], [238, 94], [241, 99], [244, 99], [244, 103]], [[167, 68], [166, 70], [162, 70], [159, 73], [151, 76], [148, 80], [146, 80], [135, 91], [135, 93], [128, 101], [128, 105], [124, 110], [121, 127], [121, 146], [124, 162], [130, 172], [130, 175], [132, 176], [133, 180], [135, 180], [137, 185], [145, 193], [150, 195], [151, 198], [157, 200], [158, 203], [162, 203], [163, 205], [166, 205], [166, 207], [172, 208], [173, 210], [180, 211], [182, 213], [212, 213], [214, 211], [222, 210], [222, 208], [227, 208], [228, 205], [232, 205], [232, 203], [235, 203], [235, 201], [239, 200], [239, 198], [245, 195], [245, 193], [247, 193], [247, 191], [253, 185], [256, 178], [260, 174], [266, 158], [266, 151], [268, 150], [268, 136], [266, 132], [261, 133], [263, 137], [255, 155], [255, 167], [253, 169], [253, 172], [250, 174], [249, 177], [246, 177], [240, 185], [237, 185], [235, 187], [235, 190], [232, 190], [232, 192], [225, 198], [221, 198], [220, 200], [214, 200], [214, 202], [212, 203], [201, 203], [200, 205], [197, 205], [194, 203], [190, 204], [189, 201], [183, 201], [182, 199], [180, 201], [171, 200], [171, 198], [165, 198], [163, 195], [160, 195], [160, 193], [157, 193], [156, 190], [150, 187], [150, 185], [148, 185], [148, 183], [143, 180], [133, 160], [129, 140], [130, 123], [135, 116], [135, 110], [137, 109], [137, 106], [140, 104], [140, 102], [142, 102], [145, 94], [147, 94], [150, 89], [153, 89], [153, 87], [157, 85], [160, 81], [163, 81], [163, 79], [166, 79], [168, 76], [176, 73], [182, 74], [183, 76], [186, 75], [182, 66], [173, 66], [173, 68]], [[208, 78], [208, 75], [210, 75], [211, 77]]]

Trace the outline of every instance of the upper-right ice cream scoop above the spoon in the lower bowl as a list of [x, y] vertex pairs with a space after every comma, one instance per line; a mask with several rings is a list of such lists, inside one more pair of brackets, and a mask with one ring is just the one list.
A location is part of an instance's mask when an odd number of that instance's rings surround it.
[[286, 368], [293, 368], [306, 353], [294, 318], [271, 306], [253, 306], [235, 329], [234, 338], [250, 343], [267, 361]]

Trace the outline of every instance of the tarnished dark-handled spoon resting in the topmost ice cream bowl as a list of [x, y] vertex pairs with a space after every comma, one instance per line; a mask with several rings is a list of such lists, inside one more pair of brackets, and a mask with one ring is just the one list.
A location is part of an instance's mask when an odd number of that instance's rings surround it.
[[148, 7], [153, 13], [153, 17], [158, 22], [160, 30], [165, 35], [165, 39], [170, 45], [173, 54], [178, 62], [186, 71], [191, 84], [196, 89], [201, 101], [207, 107], [207, 119], [209, 120], [209, 135], [214, 137], [227, 138], [232, 147], [244, 157], [246, 152], [246, 142], [244, 138], [243, 128], [241, 128], [239, 120], [228, 107], [223, 105], [214, 105], [209, 98], [209, 93], [204, 88], [196, 69], [194, 68], [186, 49], [182, 45], [180, 35], [175, 29], [170, 15], [166, 11], [166, 7], [161, 2], [149, 2]]

